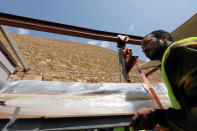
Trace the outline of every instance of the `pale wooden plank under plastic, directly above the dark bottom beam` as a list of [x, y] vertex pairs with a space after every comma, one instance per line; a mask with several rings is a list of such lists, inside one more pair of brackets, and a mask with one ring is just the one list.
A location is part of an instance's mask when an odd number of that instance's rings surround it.
[[[160, 99], [168, 106], [168, 97], [159, 95]], [[21, 111], [18, 118], [62, 118], [85, 116], [113, 116], [133, 114], [141, 107], [154, 107], [156, 104], [150, 95], [133, 97], [111, 94], [0, 94], [0, 100], [5, 105], [0, 105], [0, 119], [10, 118], [16, 107]], [[123, 102], [117, 106], [113, 102]], [[166, 103], [167, 101], [167, 103]], [[124, 105], [124, 102], [127, 105]], [[139, 104], [136, 104], [139, 102]], [[126, 104], [125, 103], [125, 104]], [[106, 106], [107, 105], [107, 106]], [[135, 107], [133, 107], [135, 106]]]

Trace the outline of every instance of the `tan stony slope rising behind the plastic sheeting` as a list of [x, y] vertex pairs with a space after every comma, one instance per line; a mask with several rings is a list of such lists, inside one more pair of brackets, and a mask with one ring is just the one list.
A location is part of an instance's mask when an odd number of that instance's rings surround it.
[[[10, 81], [125, 82], [121, 75], [118, 53], [115, 51], [85, 43], [17, 34], [13, 37], [30, 70], [24, 73], [19, 69], [10, 75]], [[16, 58], [2, 35], [0, 39]], [[143, 61], [138, 60], [138, 63]], [[143, 82], [136, 68], [131, 70], [130, 77], [133, 83]], [[149, 80], [151, 83], [162, 82], [161, 72], [153, 73]]]

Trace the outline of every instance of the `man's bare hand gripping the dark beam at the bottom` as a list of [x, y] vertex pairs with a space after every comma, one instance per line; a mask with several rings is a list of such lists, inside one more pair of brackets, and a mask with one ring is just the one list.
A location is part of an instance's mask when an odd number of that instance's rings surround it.
[[131, 119], [131, 127], [136, 131], [140, 129], [153, 129], [156, 125], [155, 109], [141, 108]]

